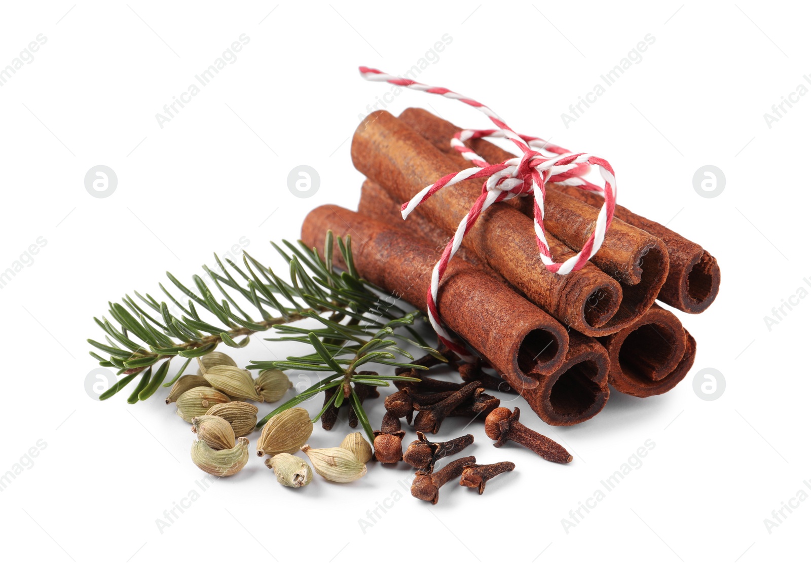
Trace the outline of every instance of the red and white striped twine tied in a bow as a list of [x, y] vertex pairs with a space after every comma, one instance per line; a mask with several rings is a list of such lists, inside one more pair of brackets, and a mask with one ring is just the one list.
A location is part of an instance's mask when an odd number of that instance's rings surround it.
[[[540, 138], [519, 135], [512, 128], [508, 127], [498, 114], [480, 102], [474, 101], [470, 97], [465, 97], [458, 92], [453, 92], [447, 88], [431, 87], [427, 84], [418, 83], [411, 79], [403, 79], [394, 75], [387, 75], [383, 71], [360, 67], [360, 74], [364, 79], [377, 82], [396, 84], [401, 87], [413, 88], [417, 91], [431, 92], [443, 97], [453, 98], [473, 106], [482, 111], [496, 125], [496, 130], [463, 130], [457, 132], [450, 140], [451, 146], [461, 153], [466, 160], [472, 161], [476, 167], [458, 171], [454, 174], [445, 175], [436, 183], [425, 187], [417, 195], [404, 203], [401, 207], [402, 216], [405, 219], [409, 213], [417, 208], [424, 200], [439, 191], [443, 187], [456, 185], [467, 179], [484, 178], [482, 194], [470, 208], [470, 212], [462, 218], [457, 228], [453, 240], [448, 243], [440, 257], [440, 261], [434, 266], [431, 273], [431, 289], [427, 292], [428, 319], [431, 326], [436, 330], [440, 341], [448, 346], [453, 352], [459, 354], [463, 359], [471, 360], [470, 351], [465, 346], [457, 342], [446, 329], [439, 323], [440, 315], [436, 307], [436, 297], [440, 287], [440, 280], [448, 267], [448, 262], [456, 254], [462, 239], [467, 234], [470, 227], [474, 225], [479, 215], [486, 211], [491, 204], [503, 200], [513, 199], [521, 195], [534, 196], [534, 227], [535, 239], [538, 242], [541, 260], [546, 268], [560, 275], [565, 275], [573, 270], [579, 270], [586, 262], [594, 256], [603, 244], [606, 230], [611, 226], [614, 218], [614, 206], [616, 204], [616, 179], [611, 164], [588, 153], [573, 153], [568, 149], [561, 148], [555, 144], [550, 144]], [[476, 152], [465, 145], [468, 140], [477, 140], [485, 137], [506, 138], [516, 144], [520, 150], [521, 157], [514, 157], [499, 164], [489, 164]], [[590, 169], [590, 165], [597, 165], [600, 174], [605, 180], [605, 187], [601, 188], [594, 183], [581, 178]], [[591, 191], [603, 196], [605, 201], [597, 216], [597, 223], [594, 232], [590, 235], [581, 251], [564, 262], [555, 262], [551, 258], [551, 252], [547, 244], [546, 235], [543, 233], [543, 200], [546, 197], [545, 185], [547, 182], [561, 183], [577, 187], [584, 191]]]

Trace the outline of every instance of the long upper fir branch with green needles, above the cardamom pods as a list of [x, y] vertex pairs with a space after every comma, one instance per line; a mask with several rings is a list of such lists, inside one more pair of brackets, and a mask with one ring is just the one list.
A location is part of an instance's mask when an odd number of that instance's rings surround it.
[[[146, 399], [165, 380], [169, 360], [175, 356], [195, 358], [215, 350], [220, 343], [240, 348], [247, 345], [253, 334], [272, 327], [277, 327], [281, 333], [300, 333], [298, 328], [289, 326], [298, 320], [315, 318], [326, 325], [321, 332], [325, 348], [349, 340], [360, 332], [360, 324], [376, 324], [380, 316], [396, 317], [391, 319], [391, 323], [396, 324], [405, 311], [381, 302], [375, 288], [358, 277], [352, 260], [350, 237], [346, 238], [346, 242], [337, 238], [341, 260], [347, 269], [340, 271], [333, 266], [335, 239], [329, 232], [324, 259], [315, 249], [301, 242], [295, 247], [282, 241], [287, 250], [272, 244], [290, 265], [290, 281], [282, 280], [272, 268], [255, 260], [247, 252], [243, 252], [242, 256], [244, 268], [231, 260], [226, 260], [226, 267], [215, 255], [219, 273], [204, 265], [208, 283], [204, 277], [192, 276], [192, 287], [196, 291], [167, 272], [166, 277], [179, 291], [179, 294], [175, 292], [173, 295], [163, 284], [159, 284], [169, 303], [158, 302], [151, 295], [142, 295], [137, 291], [137, 301], [127, 294], [121, 303], [109, 303], [109, 319], [95, 318], [105, 333], [106, 342], [88, 339], [92, 346], [109, 356], [101, 356], [93, 351], [90, 354], [102, 367], [118, 368], [118, 375], [122, 375], [122, 378], [100, 398], [112, 397], [135, 376], [141, 376], [129, 402]], [[237, 277], [232, 275], [232, 271]], [[181, 303], [175, 296], [187, 301], [187, 304]], [[171, 310], [169, 304], [173, 306]], [[341, 321], [346, 318], [349, 318], [349, 323], [342, 324]], [[283, 337], [283, 340], [288, 340], [288, 337]], [[161, 369], [153, 373], [152, 366], [161, 361], [164, 361]], [[334, 370], [328, 364], [326, 367]], [[179, 376], [180, 372], [164, 385], [172, 384]]]

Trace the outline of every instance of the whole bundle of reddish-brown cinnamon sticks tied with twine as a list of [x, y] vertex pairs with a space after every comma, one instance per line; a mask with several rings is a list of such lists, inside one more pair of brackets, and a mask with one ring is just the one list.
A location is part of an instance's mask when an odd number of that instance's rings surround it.
[[[439, 191], [407, 221], [400, 209], [470, 165], [450, 145], [460, 130], [421, 109], [367, 116], [352, 140], [354, 165], [367, 177], [358, 213], [316, 208], [303, 241], [323, 252], [328, 230], [351, 234], [361, 277], [425, 310], [431, 270], [482, 188], [466, 181]], [[468, 145], [490, 163], [514, 157], [487, 140]], [[601, 204], [575, 187], [547, 185], [544, 224], [556, 261], [583, 247]], [[696, 341], [656, 300], [687, 313], [706, 310], [719, 291], [714, 257], [618, 206], [599, 251], [559, 275], [539, 257], [532, 214], [531, 199], [504, 200], [472, 226], [440, 281], [444, 326], [553, 425], [597, 415], [609, 384], [637, 397], [676, 386], [693, 365]]]

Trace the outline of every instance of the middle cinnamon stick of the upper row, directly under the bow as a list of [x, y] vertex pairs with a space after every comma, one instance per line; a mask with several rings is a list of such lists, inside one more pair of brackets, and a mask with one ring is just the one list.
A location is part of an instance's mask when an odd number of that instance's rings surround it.
[[[416, 108], [404, 110], [400, 119], [445, 152], [457, 167], [470, 167], [470, 162], [450, 146], [451, 138], [459, 131], [451, 122], [427, 110]], [[490, 163], [500, 163], [515, 157], [487, 140], [474, 140], [470, 147]], [[532, 199], [513, 199], [507, 202], [520, 208], [527, 216], [534, 216]], [[594, 230], [598, 213], [599, 209], [590, 204], [547, 187], [544, 227], [573, 250], [580, 250], [586, 243]], [[653, 305], [667, 278], [668, 255], [663, 241], [616, 217], [606, 232], [603, 246], [591, 257], [591, 262], [620, 281], [624, 300], [620, 311], [646, 311]], [[633, 317], [633, 313], [631, 316]]]

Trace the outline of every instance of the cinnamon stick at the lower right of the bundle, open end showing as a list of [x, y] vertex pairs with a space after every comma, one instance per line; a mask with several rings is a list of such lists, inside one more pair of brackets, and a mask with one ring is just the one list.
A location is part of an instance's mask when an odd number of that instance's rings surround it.
[[696, 340], [678, 317], [656, 305], [619, 333], [599, 340], [611, 359], [608, 383], [636, 397], [673, 389], [696, 358]]

